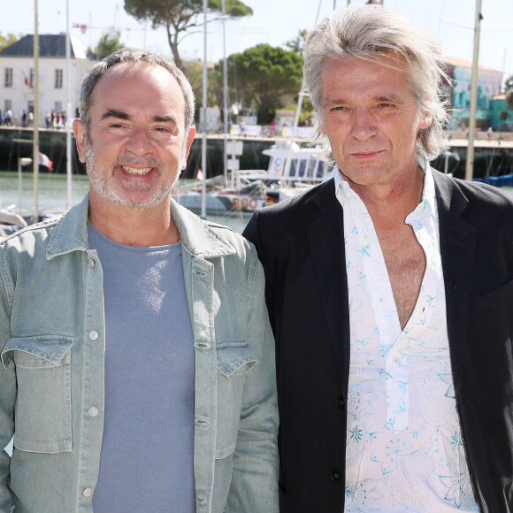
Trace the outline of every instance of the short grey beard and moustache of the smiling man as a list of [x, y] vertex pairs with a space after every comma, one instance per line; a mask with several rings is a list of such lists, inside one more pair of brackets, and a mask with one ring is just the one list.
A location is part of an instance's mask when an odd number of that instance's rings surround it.
[[[176, 186], [178, 183], [178, 180], [180, 179], [180, 173], [183, 165], [183, 161], [185, 159], [185, 152], [182, 152], [182, 155], [180, 157], [179, 162], [179, 169], [176, 174], [175, 180], [173, 180], [172, 185], [164, 190], [161, 190], [157, 192], [157, 195], [151, 199], [148, 203], [134, 203], [129, 201], [127, 198], [119, 197], [119, 195], [115, 194], [115, 191], [112, 190], [112, 188], [109, 188], [103, 180], [99, 178], [99, 175], [101, 174], [100, 167], [96, 164], [95, 159], [95, 151], [91, 145], [91, 143], [88, 141], [86, 142], [86, 170], [88, 172], [89, 177], [89, 183], [92, 188], [96, 190], [96, 192], [102, 196], [102, 198], [117, 206], [117, 207], [128, 207], [130, 209], [135, 210], [150, 210], [156, 207], [158, 204], [162, 203], [165, 198], [169, 197], [172, 193], [172, 189]], [[123, 157], [122, 159], [123, 165], [142, 165], [142, 166], [151, 166], [157, 168], [158, 172], [162, 172], [162, 165], [157, 162], [155, 159], [132, 159], [132, 162], [130, 162], [130, 158]], [[114, 163], [112, 166], [112, 169], [119, 165], [119, 159]], [[103, 170], [105, 171], [105, 170]]]

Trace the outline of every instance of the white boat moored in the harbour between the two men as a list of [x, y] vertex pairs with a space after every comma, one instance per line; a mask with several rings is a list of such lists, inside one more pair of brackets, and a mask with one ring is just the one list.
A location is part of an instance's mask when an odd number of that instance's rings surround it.
[[[267, 170], [239, 170], [230, 174], [229, 183], [218, 176], [206, 180], [207, 214], [253, 213], [265, 205], [296, 195], [305, 188], [327, 180], [333, 174], [320, 158], [317, 148], [301, 148], [290, 140], [279, 140], [264, 149], [271, 157]], [[202, 182], [177, 189], [175, 199], [192, 211], [201, 211]]]

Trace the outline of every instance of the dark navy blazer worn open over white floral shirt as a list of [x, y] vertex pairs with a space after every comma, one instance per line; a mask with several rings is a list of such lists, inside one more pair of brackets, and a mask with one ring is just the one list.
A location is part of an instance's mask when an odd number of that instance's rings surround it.
[[[480, 510], [513, 512], [513, 201], [433, 171], [456, 405]], [[343, 211], [333, 180], [257, 211], [276, 339], [280, 511], [341, 513], [348, 394]]]

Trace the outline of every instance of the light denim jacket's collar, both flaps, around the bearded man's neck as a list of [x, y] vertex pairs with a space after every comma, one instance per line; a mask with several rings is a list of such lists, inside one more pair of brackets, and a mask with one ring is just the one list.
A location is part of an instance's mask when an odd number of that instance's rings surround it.
[[[58, 219], [46, 249], [47, 260], [72, 251], [87, 251], [88, 206], [89, 195], [87, 194], [80, 203]], [[235, 248], [211, 230], [209, 223], [204, 222], [174, 200], [172, 200], [171, 211], [172, 220], [180, 233], [182, 247], [190, 255], [214, 258], [235, 254]]]

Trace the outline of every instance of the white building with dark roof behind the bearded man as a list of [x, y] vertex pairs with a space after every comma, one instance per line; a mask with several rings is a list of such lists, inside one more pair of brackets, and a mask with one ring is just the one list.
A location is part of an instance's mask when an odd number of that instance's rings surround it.
[[[65, 42], [65, 34], [39, 35], [39, 126], [45, 126], [47, 112], [66, 110], [68, 77]], [[97, 60], [96, 54], [85, 43], [71, 36], [70, 83], [73, 117], [78, 108], [81, 80]], [[0, 51], [0, 109], [11, 110], [16, 125], [21, 125], [22, 111], [27, 114], [34, 111], [33, 35], [26, 35]]]

